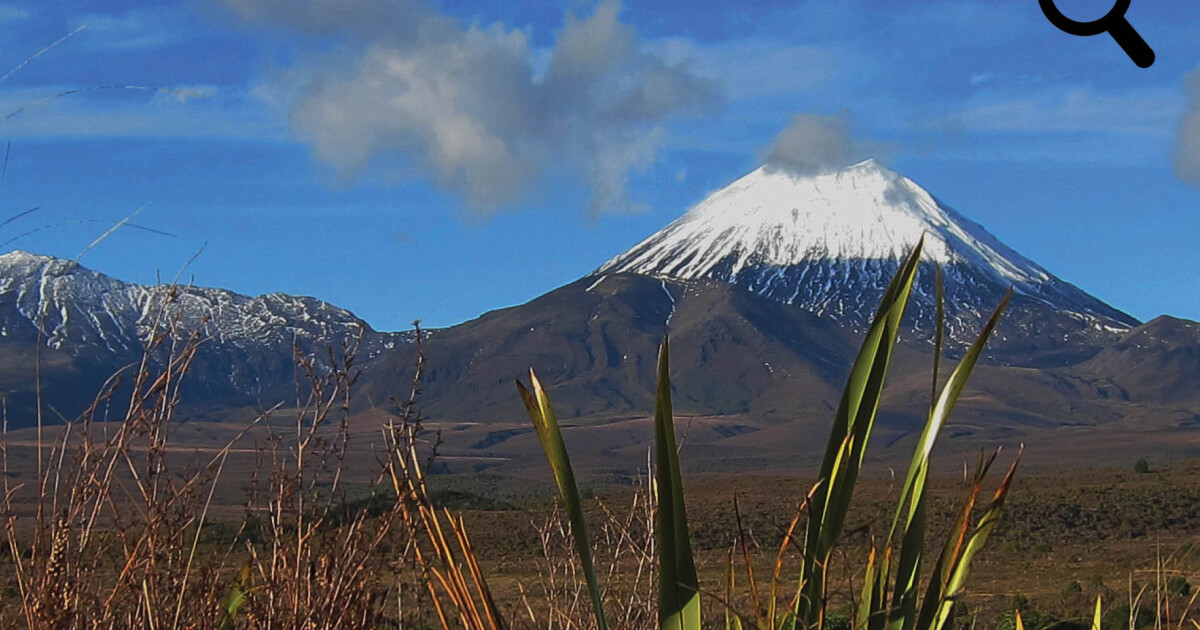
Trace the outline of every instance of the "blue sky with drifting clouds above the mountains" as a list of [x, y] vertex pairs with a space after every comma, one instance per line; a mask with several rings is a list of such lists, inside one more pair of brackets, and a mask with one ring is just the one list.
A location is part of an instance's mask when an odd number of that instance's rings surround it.
[[1134, 0], [1148, 70], [1036, 0], [743, 5], [0, 4], [0, 66], [84, 26], [0, 115], [103, 88], [0, 124], [0, 214], [40, 208], [0, 248], [73, 258], [145, 206], [158, 232], [83, 263], [154, 282], [204, 246], [198, 284], [449, 325], [587, 274], [802, 114], [1114, 306], [1200, 319], [1200, 5]]

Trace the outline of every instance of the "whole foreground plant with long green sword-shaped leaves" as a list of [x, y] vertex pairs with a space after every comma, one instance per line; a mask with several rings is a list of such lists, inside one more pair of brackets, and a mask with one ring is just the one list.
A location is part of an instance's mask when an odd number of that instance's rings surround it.
[[[797, 520], [792, 522], [780, 548], [769, 588], [770, 601], [767, 606], [763, 606], [760, 600], [750, 569], [749, 550], [743, 545], [755, 604], [752, 619], [754, 624], [762, 630], [823, 628], [826, 624], [829, 558], [845, 527], [854, 486], [863, 466], [863, 457], [875, 425], [888, 364], [919, 268], [922, 245], [918, 242], [913, 247], [892, 278], [866, 332], [863, 347], [851, 367], [850, 378], [842, 390], [826, 445], [820, 480], [817, 486], [808, 493], [802, 506], [806, 515], [806, 522], [804, 536], [799, 544], [800, 578], [796, 595], [784, 614], [778, 613], [775, 594], [780, 587], [780, 566], [785, 552], [792, 542], [792, 532], [797, 527], [800, 515], [797, 515]], [[953, 611], [952, 604], [961, 594], [962, 584], [970, 572], [971, 560], [986, 544], [1000, 518], [1016, 468], [1014, 462], [983, 516], [972, 527], [972, 511], [982, 492], [984, 478], [996, 458], [996, 454], [988, 457], [980, 455], [971, 491], [962, 504], [950, 535], [942, 545], [929, 584], [924, 589], [924, 596], [919, 598], [919, 577], [925, 556], [929, 456], [941, 428], [954, 409], [971, 371], [979, 360], [988, 338], [1012, 296], [1012, 292], [1009, 292], [1009, 295], [1006, 295], [996, 307], [995, 313], [986, 322], [978, 338], [962, 356], [938, 394], [937, 376], [943, 334], [940, 274], [936, 276], [936, 287], [937, 329], [934, 343], [934, 402], [905, 476], [892, 527], [883, 544], [872, 546], [865, 568], [863, 596], [856, 613], [856, 628], [866, 630], [941, 630], [948, 625]], [[583, 506], [570, 458], [545, 388], [532, 372], [530, 378], [534, 388], [533, 394], [521, 383], [517, 383], [517, 388], [554, 472], [559, 493], [570, 517], [575, 546], [587, 576], [596, 625], [600, 629], [606, 629], [601, 588], [596, 582], [592, 559], [592, 542], [588, 538]], [[655, 488], [659, 498], [655, 522], [659, 553], [658, 625], [662, 630], [698, 630], [701, 628], [701, 592], [684, 510], [683, 484], [672, 419], [668, 344], [665, 340], [659, 350], [654, 407], [654, 454]], [[902, 529], [901, 522], [904, 523]], [[896, 552], [893, 541], [898, 539], [901, 542]], [[743, 619], [732, 613], [731, 607], [734, 583], [732, 564], [731, 554], [724, 582], [724, 605], [727, 608], [725, 626], [726, 629], [740, 629]]]

